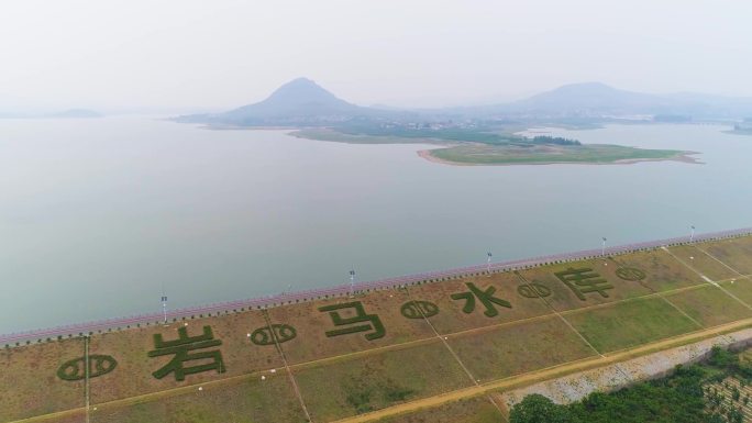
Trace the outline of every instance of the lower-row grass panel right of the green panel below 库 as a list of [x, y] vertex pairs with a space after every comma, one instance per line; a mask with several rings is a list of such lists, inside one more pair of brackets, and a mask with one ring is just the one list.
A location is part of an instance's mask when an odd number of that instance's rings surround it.
[[705, 327], [752, 316], [752, 311], [714, 286], [690, 289], [666, 299]]

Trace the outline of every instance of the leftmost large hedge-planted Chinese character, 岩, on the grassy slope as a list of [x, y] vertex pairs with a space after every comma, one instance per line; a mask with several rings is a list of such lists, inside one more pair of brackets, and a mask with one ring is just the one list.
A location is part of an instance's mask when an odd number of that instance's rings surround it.
[[[163, 368], [154, 371], [155, 378], [162, 379], [170, 372], [175, 374], [175, 380], [185, 380], [186, 375], [199, 374], [202, 371], [217, 370], [218, 374], [224, 372], [224, 361], [222, 361], [222, 353], [217, 350], [191, 353], [196, 349], [204, 349], [222, 345], [222, 341], [214, 339], [211, 332], [211, 326], [203, 326], [203, 334], [198, 336], [188, 336], [187, 327], [178, 329], [178, 338], [175, 341], [164, 341], [162, 334], [154, 335], [154, 347], [156, 349], [148, 352], [150, 357], [158, 357], [164, 355], [174, 355], [172, 360]], [[211, 363], [202, 363], [195, 366], [184, 366], [187, 361], [210, 360]]]

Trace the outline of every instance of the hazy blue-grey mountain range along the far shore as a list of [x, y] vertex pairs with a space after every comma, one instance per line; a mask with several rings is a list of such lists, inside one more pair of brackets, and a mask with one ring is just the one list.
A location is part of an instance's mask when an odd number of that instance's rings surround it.
[[361, 107], [327, 91], [307, 78], [285, 84], [264, 101], [223, 113], [178, 116], [179, 122], [218, 125], [329, 125], [350, 121], [441, 119], [635, 119], [742, 120], [752, 115], [752, 98], [710, 94], [649, 94], [599, 82], [573, 84], [528, 99], [482, 107], [405, 110]]

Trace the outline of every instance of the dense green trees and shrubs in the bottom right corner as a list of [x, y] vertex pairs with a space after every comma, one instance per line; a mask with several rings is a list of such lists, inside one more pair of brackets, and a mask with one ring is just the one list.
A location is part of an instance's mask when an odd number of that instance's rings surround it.
[[568, 405], [531, 394], [510, 423], [744, 423], [749, 422], [752, 367], [715, 347], [705, 365], [677, 366], [670, 377], [617, 392], [594, 392]]

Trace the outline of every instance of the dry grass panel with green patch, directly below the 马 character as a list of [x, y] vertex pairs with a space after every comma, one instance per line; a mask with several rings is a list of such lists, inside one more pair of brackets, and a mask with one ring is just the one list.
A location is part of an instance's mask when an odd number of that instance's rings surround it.
[[443, 343], [294, 370], [311, 418], [329, 422], [472, 385]]

